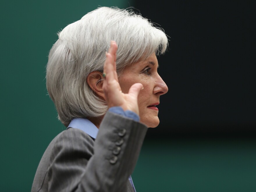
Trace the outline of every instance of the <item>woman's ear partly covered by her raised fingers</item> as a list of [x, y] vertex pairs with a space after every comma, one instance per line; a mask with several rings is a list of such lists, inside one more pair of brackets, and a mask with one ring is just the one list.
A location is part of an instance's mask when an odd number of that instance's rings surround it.
[[103, 86], [102, 72], [99, 72], [99, 71], [90, 72], [86, 81], [90, 86], [90, 88], [94, 91], [94, 93], [96, 93], [100, 98], [106, 101], [105, 95], [102, 89], [102, 86]]

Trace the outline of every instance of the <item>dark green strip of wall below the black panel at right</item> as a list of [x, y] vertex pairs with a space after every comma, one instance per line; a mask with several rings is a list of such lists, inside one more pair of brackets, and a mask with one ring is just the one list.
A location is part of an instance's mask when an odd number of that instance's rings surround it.
[[147, 139], [132, 175], [136, 191], [256, 191], [255, 139]]

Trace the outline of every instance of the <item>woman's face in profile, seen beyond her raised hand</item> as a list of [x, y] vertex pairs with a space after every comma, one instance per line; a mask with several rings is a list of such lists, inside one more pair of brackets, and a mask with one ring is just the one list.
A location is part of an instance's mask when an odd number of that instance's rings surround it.
[[119, 78], [123, 93], [128, 93], [134, 83], [142, 83], [144, 89], [138, 95], [140, 121], [147, 127], [157, 127], [159, 124], [159, 97], [167, 93], [168, 87], [157, 73], [157, 57], [153, 53], [149, 58], [126, 67]]

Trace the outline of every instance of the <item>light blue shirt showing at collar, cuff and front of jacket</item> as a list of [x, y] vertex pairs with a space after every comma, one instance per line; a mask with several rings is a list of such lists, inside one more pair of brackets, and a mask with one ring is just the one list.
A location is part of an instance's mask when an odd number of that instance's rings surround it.
[[[134, 113], [132, 111], [129, 111], [129, 110], [124, 111], [121, 107], [111, 107], [109, 109], [109, 111], [113, 112], [113, 113], [117, 113], [119, 115], [123, 115], [123, 116], [128, 117], [128, 118], [131, 118], [134, 121], [139, 121], [140, 120], [139, 116], [136, 113]], [[70, 128], [70, 127], [80, 129], [80, 130], [84, 131], [86, 134], [88, 134], [90, 137], [92, 137], [94, 139], [97, 137], [97, 134], [98, 134], [98, 131], [99, 131], [99, 129], [92, 122], [90, 122], [88, 119], [85, 119], [85, 118], [74, 118], [74, 119], [72, 119], [72, 121], [68, 125], [67, 129]], [[129, 176], [129, 182], [131, 183], [132, 188], [136, 192], [134, 184], [133, 184], [132, 179], [131, 179], [131, 175]]]

